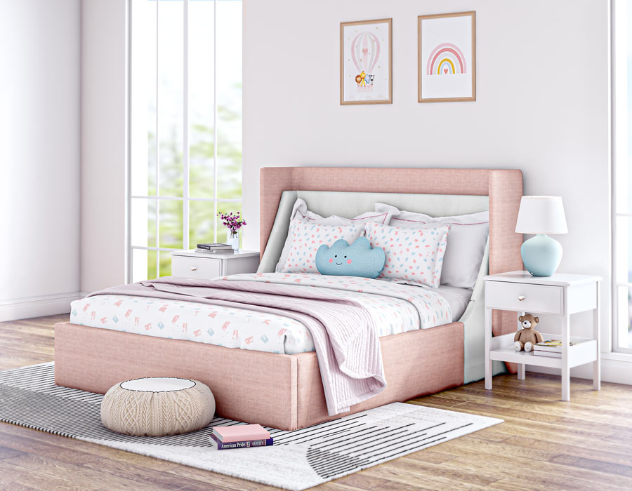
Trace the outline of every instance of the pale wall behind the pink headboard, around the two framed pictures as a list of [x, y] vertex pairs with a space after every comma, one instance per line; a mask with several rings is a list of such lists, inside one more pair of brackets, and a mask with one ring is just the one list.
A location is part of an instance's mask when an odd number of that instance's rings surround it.
[[[417, 103], [417, 15], [470, 10], [477, 100]], [[593, 0], [245, 0], [245, 247], [263, 166], [520, 168], [525, 194], [562, 196], [560, 271], [604, 277], [609, 335], [608, 16]], [[393, 18], [393, 104], [341, 106], [339, 23], [379, 18]], [[573, 320], [589, 334], [590, 316]]]

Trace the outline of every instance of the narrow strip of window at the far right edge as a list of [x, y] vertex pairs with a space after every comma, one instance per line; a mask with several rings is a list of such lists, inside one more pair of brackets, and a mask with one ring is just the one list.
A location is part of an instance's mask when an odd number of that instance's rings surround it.
[[614, 349], [632, 353], [632, 8], [612, 4]]

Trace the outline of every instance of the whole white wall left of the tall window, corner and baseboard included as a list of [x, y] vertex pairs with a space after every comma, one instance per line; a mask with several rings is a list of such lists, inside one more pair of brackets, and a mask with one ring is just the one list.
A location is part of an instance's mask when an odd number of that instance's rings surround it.
[[0, 0], [0, 321], [126, 280], [125, 0]]

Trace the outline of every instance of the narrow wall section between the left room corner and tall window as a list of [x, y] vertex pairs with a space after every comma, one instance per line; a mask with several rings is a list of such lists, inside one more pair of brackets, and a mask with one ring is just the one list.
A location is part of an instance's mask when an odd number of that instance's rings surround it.
[[126, 1], [83, 0], [81, 291], [126, 279]]

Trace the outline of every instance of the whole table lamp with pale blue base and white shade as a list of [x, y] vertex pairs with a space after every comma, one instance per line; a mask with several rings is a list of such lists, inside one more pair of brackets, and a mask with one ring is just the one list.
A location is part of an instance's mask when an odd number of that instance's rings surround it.
[[533, 276], [551, 276], [562, 260], [562, 244], [547, 234], [567, 234], [564, 206], [560, 196], [522, 196], [518, 234], [536, 234], [522, 243], [520, 254]]

